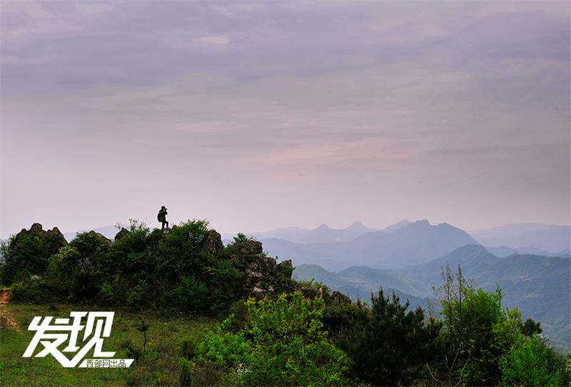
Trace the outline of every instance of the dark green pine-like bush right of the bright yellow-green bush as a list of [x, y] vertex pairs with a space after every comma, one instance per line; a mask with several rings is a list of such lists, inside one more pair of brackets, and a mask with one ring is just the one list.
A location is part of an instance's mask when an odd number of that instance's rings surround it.
[[358, 302], [348, 321], [335, 332], [335, 344], [353, 360], [354, 378], [373, 386], [410, 385], [425, 372], [440, 331], [440, 322], [425, 319], [420, 307], [408, 311], [408, 301], [371, 294], [370, 307]]

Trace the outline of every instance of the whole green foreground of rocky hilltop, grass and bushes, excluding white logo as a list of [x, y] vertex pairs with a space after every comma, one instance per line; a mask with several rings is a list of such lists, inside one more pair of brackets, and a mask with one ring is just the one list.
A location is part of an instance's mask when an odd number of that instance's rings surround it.
[[[34, 229], [34, 227], [33, 227]], [[32, 232], [33, 231], [33, 232]], [[353, 303], [315, 282], [294, 282], [260, 242], [224, 247], [208, 222], [167, 231], [133, 221], [116, 240], [96, 232], [69, 244], [36, 227], [1, 246], [0, 377], [6, 385], [129, 386], [562, 386], [571, 357], [542, 327], [502, 306], [460, 267], [443, 270], [440, 311], [409, 309], [381, 287]], [[31, 304], [28, 304], [31, 303]], [[116, 311], [105, 349], [128, 370], [61, 368], [21, 358], [33, 316]], [[103, 310], [105, 310], [103, 309]], [[216, 322], [221, 321], [221, 322]]]

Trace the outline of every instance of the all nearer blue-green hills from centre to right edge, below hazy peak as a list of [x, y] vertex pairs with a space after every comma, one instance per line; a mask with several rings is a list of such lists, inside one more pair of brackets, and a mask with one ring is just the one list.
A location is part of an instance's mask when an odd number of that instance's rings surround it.
[[[504, 305], [517, 307], [525, 317], [540, 321], [545, 335], [560, 351], [571, 351], [571, 259], [512, 254], [500, 258], [480, 244], [469, 244], [423, 264], [398, 270], [349, 267], [329, 272], [318, 265], [301, 264], [295, 268], [298, 279], [315, 279], [353, 299], [369, 299], [370, 291], [395, 289], [401, 300], [411, 306], [427, 306], [433, 298], [432, 287], [443, 283], [441, 267], [455, 270], [461, 265], [466, 278], [480, 287], [494, 290], [497, 285], [505, 296]], [[557, 300], [557, 301], [555, 301]]]

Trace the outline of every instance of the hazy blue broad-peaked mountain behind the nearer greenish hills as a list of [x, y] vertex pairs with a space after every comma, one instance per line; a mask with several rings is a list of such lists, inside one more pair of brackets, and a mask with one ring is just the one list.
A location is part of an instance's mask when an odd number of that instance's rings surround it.
[[428, 262], [466, 244], [477, 242], [465, 231], [428, 220], [400, 222], [383, 231], [367, 232], [346, 242], [301, 244], [283, 239], [261, 239], [271, 255], [293, 259], [295, 265], [320, 264], [338, 270], [353, 265], [378, 269]]

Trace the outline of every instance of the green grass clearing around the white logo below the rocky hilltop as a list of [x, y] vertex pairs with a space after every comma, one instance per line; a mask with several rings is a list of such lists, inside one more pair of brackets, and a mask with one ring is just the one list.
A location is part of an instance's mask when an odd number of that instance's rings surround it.
[[[34, 316], [69, 317], [69, 311], [89, 310], [85, 306], [16, 304], [2, 306], [4, 319], [17, 328], [0, 327], [0, 381], [2, 386], [176, 386], [181, 358], [181, 339], [200, 336], [214, 320], [185, 316], [166, 317], [143, 312], [116, 311], [111, 337], [103, 351], [116, 351], [115, 358], [136, 358], [130, 368], [64, 368], [53, 357], [23, 358], [34, 336], [28, 331]], [[103, 309], [94, 309], [103, 310]], [[139, 316], [148, 325], [146, 351]], [[81, 340], [81, 333], [80, 333]], [[40, 348], [36, 349], [37, 354]], [[63, 349], [62, 345], [60, 349]], [[73, 354], [67, 354], [71, 357]], [[88, 354], [87, 358], [93, 357]]]

